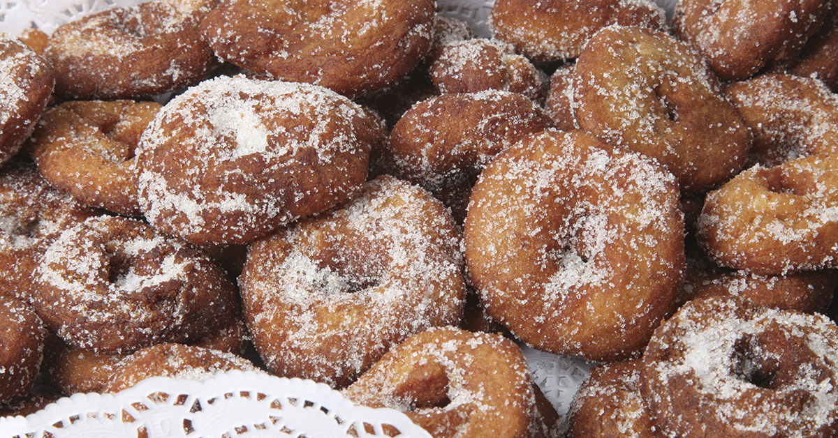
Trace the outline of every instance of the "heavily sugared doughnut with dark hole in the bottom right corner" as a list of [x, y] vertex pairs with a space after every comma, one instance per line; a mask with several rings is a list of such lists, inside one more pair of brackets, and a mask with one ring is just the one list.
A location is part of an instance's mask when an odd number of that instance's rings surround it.
[[693, 300], [654, 332], [640, 389], [668, 436], [835, 436], [838, 327], [820, 314]]

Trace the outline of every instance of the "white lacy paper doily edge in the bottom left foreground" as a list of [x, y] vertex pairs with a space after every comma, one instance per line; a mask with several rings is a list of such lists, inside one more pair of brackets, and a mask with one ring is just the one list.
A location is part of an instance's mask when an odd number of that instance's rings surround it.
[[75, 394], [25, 418], [0, 418], [3, 438], [431, 438], [401, 412], [353, 405], [326, 384], [230, 371], [204, 382], [146, 379], [118, 394]]

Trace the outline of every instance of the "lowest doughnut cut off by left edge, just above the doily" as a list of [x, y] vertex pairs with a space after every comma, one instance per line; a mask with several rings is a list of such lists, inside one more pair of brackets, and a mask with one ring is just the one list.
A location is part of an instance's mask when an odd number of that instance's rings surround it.
[[0, 298], [0, 402], [32, 388], [44, 358], [44, 323], [23, 301]]

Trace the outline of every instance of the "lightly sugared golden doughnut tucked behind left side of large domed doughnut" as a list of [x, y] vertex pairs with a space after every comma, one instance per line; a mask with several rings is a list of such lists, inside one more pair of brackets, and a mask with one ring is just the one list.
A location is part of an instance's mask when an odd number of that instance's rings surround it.
[[133, 100], [65, 102], [44, 113], [29, 154], [54, 187], [85, 204], [140, 216], [134, 149], [160, 108]]

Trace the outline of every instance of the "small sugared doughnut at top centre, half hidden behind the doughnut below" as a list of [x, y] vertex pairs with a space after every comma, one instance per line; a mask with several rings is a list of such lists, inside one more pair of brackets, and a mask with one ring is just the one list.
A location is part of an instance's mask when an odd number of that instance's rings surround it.
[[431, 65], [431, 80], [441, 93], [502, 90], [544, 100], [547, 75], [499, 39], [465, 39], [443, 44]]

